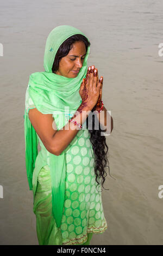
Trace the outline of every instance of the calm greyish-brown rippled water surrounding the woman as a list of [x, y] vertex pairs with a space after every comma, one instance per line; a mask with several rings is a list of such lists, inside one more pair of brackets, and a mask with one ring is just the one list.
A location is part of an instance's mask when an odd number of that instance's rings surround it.
[[[23, 112], [29, 75], [43, 70], [48, 33], [59, 25], [91, 41], [88, 65], [104, 76], [103, 102], [114, 130], [106, 138], [108, 230], [92, 245], [161, 245], [163, 1], [1, 1], [1, 244], [37, 245], [24, 159]], [[108, 171], [108, 170], [107, 170]]]

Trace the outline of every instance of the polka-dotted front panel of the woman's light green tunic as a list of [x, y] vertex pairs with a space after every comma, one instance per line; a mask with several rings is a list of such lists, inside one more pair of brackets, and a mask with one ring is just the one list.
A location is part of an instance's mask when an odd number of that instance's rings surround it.
[[61, 232], [63, 244], [71, 245], [71, 240], [78, 241], [88, 230], [97, 233], [106, 229], [106, 221], [88, 130], [79, 130], [66, 148], [65, 155], [67, 169]]

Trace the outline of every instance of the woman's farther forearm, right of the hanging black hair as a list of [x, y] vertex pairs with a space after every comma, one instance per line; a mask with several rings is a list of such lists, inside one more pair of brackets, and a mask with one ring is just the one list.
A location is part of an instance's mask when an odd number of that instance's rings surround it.
[[103, 110], [100, 113], [96, 113], [96, 116], [101, 125], [101, 129], [105, 129], [104, 133], [110, 135], [113, 129], [113, 120], [109, 111], [103, 106]]

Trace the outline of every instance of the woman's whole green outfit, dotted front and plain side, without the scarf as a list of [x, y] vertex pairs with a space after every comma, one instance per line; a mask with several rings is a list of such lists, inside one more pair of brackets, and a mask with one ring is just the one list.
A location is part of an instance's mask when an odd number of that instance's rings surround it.
[[[35, 107], [34, 104], [30, 106]], [[83, 124], [83, 128], [85, 127], [86, 122]], [[60, 228], [57, 228], [52, 216], [48, 151], [39, 136], [38, 139], [41, 151], [36, 158], [33, 174], [33, 211], [36, 215], [39, 245], [89, 245], [93, 233], [103, 233], [107, 229], [102, 189], [96, 182], [95, 157], [89, 131], [79, 130], [65, 150], [65, 203]]]

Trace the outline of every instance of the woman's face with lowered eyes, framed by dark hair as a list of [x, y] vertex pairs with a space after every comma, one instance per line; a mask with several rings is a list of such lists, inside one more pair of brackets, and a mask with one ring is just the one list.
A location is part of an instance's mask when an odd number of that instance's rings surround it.
[[73, 71], [79, 71], [83, 67], [86, 47], [83, 41], [76, 41], [72, 46], [68, 54], [61, 58], [59, 69], [55, 74], [65, 76], [66, 78], [76, 78], [79, 74]]

